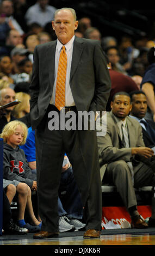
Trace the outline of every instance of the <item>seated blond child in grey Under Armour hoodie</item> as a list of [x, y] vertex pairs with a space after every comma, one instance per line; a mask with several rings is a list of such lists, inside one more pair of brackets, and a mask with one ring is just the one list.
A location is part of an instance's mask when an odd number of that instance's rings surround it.
[[[11, 121], [4, 126], [1, 133], [1, 138], [4, 140], [3, 145], [3, 188], [12, 188], [18, 194], [18, 225], [27, 228], [29, 232], [41, 230], [41, 223], [36, 219], [32, 200], [31, 190], [37, 191], [36, 175], [33, 174], [28, 167], [24, 151], [19, 148], [26, 142], [27, 126], [20, 121]], [[14, 193], [7, 192], [9, 202], [11, 203]], [[24, 212], [28, 209], [30, 221], [33, 225], [25, 223]]]

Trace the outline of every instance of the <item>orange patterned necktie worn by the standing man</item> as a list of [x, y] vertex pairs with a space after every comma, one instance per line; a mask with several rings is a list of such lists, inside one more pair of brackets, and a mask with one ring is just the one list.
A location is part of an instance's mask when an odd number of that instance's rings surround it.
[[65, 46], [62, 47], [59, 57], [57, 83], [55, 90], [55, 107], [60, 111], [61, 107], [65, 106], [65, 83], [67, 69], [67, 54]]

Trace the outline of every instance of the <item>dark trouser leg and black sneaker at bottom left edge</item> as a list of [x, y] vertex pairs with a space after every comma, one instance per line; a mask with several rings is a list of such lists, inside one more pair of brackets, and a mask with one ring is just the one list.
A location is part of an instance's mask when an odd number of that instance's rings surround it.
[[[12, 192], [13, 193], [13, 192]], [[3, 189], [3, 230], [5, 235], [23, 235], [28, 233], [27, 228], [19, 227], [13, 220], [8, 197]]]

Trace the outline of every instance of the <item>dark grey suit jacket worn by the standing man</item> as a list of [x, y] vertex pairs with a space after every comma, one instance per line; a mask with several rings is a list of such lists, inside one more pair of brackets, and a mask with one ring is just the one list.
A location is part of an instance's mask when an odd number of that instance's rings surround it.
[[[30, 115], [33, 128], [39, 125], [51, 100], [56, 45], [57, 40], [38, 45], [34, 50], [30, 83]], [[99, 41], [75, 36], [70, 87], [78, 111], [105, 111], [111, 83]]]

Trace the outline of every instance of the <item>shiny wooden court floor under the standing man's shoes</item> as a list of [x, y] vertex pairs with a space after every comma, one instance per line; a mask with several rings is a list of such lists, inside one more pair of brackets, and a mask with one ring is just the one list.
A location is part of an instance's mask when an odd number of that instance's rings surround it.
[[[101, 248], [101, 246], [154, 246], [155, 228], [147, 229], [126, 229], [126, 230], [102, 230], [100, 239], [83, 239], [84, 231], [73, 233], [61, 233], [60, 237], [49, 239], [33, 239], [33, 234], [26, 235], [2, 235], [0, 236], [0, 246], [76, 246], [78, 248], [91, 246]], [[122, 231], [122, 233], [121, 233]], [[60, 247], [61, 248], [61, 247]]]

